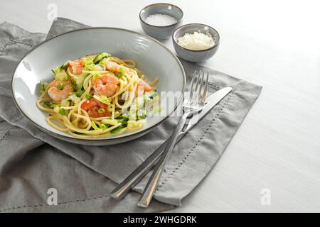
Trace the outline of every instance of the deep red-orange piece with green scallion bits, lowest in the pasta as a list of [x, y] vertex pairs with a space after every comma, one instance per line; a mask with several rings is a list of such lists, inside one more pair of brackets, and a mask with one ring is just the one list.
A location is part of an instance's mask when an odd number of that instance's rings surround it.
[[107, 105], [98, 101], [97, 99], [90, 99], [85, 101], [81, 108], [87, 111], [87, 114], [92, 118], [101, 118], [104, 116], [111, 116], [110, 111], [107, 110]]

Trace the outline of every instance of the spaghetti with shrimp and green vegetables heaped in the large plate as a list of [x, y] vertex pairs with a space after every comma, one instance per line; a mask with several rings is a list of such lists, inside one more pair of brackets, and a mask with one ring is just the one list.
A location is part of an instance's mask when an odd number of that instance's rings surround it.
[[134, 60], [106, 52], [69, 60], [41, 81], [38, 109], [47, 123], [78, 138], [124, 133], [142, 128], [159, 111], [156, 82], [147, 83]]

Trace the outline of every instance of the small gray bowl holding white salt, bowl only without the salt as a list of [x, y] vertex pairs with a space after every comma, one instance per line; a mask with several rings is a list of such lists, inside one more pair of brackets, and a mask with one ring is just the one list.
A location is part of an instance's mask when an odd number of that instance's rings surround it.
[[[171, 24], [169, 26], [154, 26], [146, 23], [146, 18], [151, 14], [162, 13], [176, 18], [177, 23]], [[172, 4], [158, 3], [151, 4], [144, 7], [139, 13], [140, 23], [144, 32], [154, 38], [165, 40], [171, 36], [174, 30], [181, 23], [183, 18], [183, 11]]]

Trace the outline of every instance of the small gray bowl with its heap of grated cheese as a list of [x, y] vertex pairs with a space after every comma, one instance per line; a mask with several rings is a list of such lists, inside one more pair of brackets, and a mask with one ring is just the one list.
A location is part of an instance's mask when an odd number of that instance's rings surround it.
[[218, 31], [201, 23], [183, 25], [172, 34], [174, 50], [189, 62], [203, 62], [215, 55], [220, 44]]

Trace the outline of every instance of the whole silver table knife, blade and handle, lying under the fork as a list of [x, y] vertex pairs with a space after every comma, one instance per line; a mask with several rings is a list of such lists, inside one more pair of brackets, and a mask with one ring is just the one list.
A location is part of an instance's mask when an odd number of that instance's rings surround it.
[[[213, 107], [218, 104], [226, 95], [228, 95], [232, 91], [231, 87], [225, 87], [223, 89], [218, 90], [217, 92], [211, 94], [207, 98], [206, 106], [203, 108], [203, 110], [196, 116], [193, 116], [192, 118], [196, 117], [195, 121], [191, 120], [188, 122], [188, 124], [183, 128], [183, 130], [179, 133], [178, 139], [176, 140], [176, 143], [180, 141], [188, 131], [193, 128], [193, 126], [198, 123], [208, 112], [213, 109]], [[166, 143], [169, 141], [169, 138], [160, 145], [159, 148], [157, 148], [154, 153], [152, 153], [144, 162], [142, 162], [139, 167], [137, 167], [132, 174], [130, 174], [126, 179], [124, 179], [123, 182], [121, 182], [110, 194], [114, 199], [122, 199], [132, 187], [134, 187], [148, 172], [151, 170], [152, 167], [156, 164], [156, 162], [159, 160], [159, 157], [164, 151], [164, 148], [166, 147]]]

